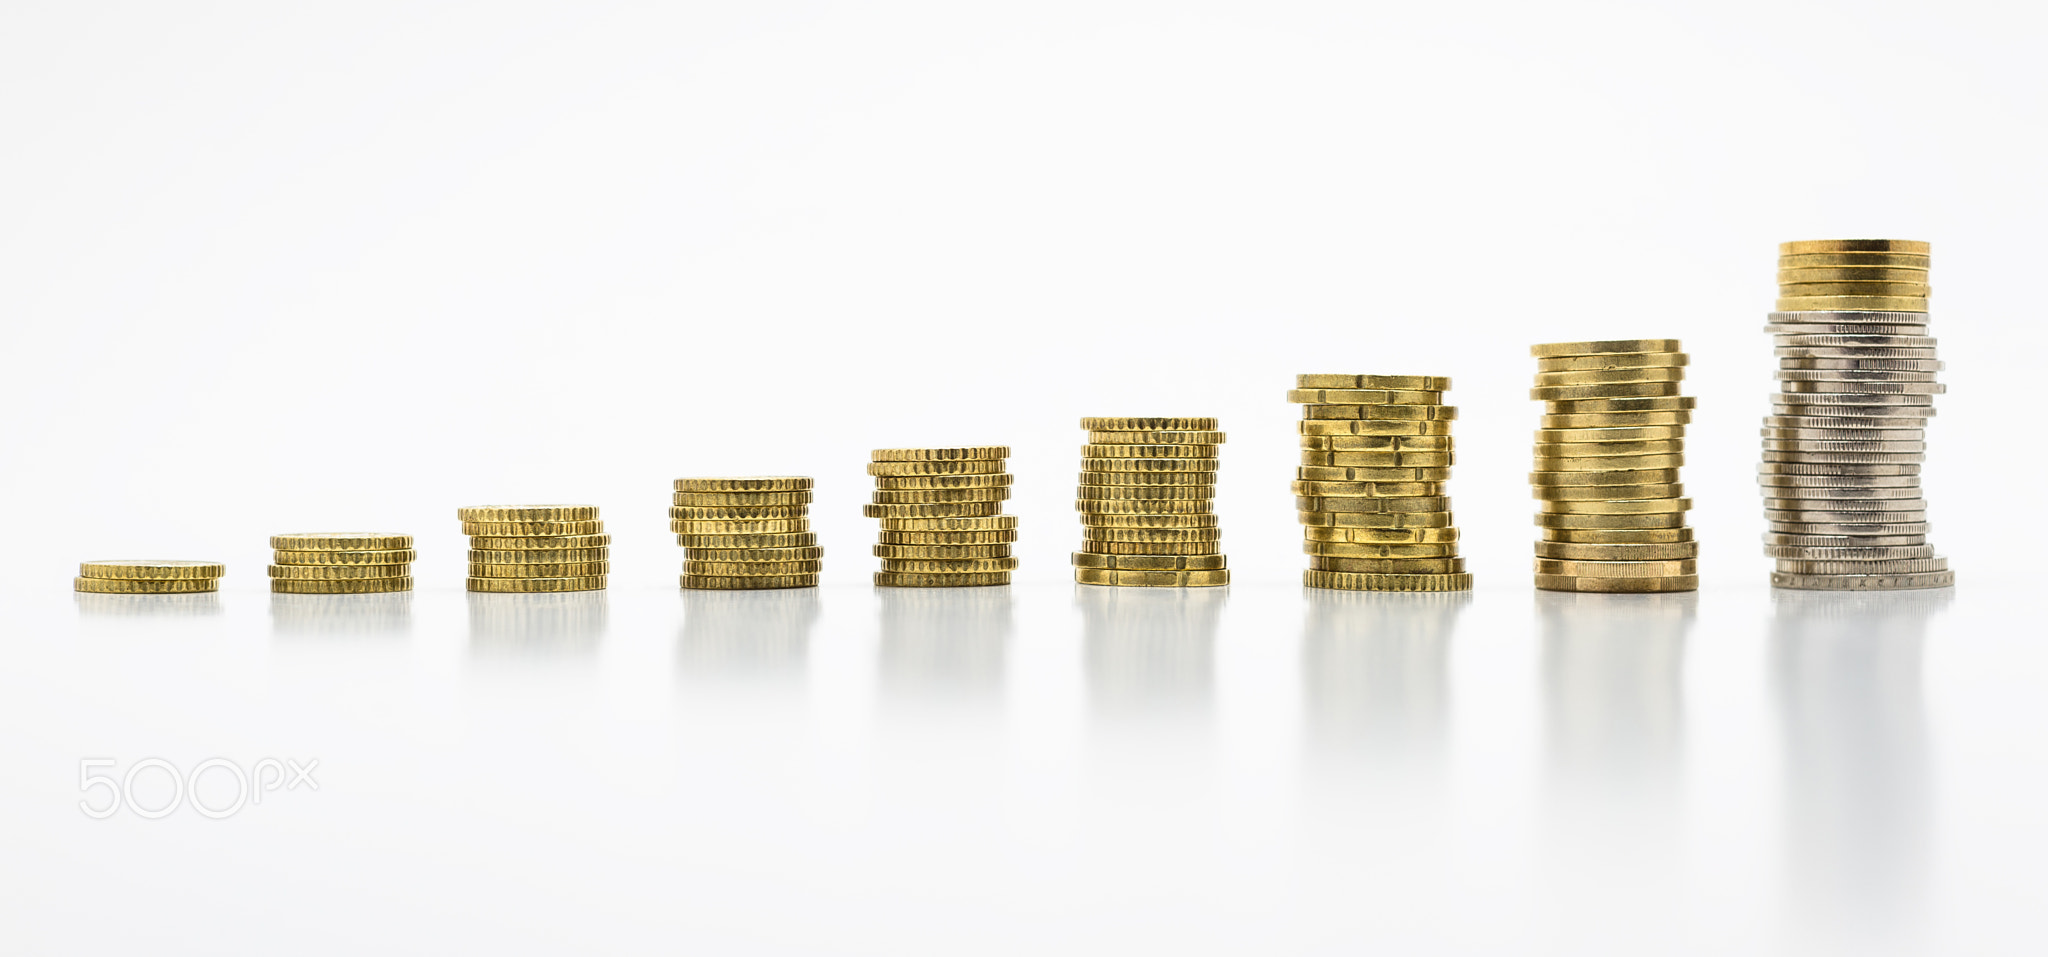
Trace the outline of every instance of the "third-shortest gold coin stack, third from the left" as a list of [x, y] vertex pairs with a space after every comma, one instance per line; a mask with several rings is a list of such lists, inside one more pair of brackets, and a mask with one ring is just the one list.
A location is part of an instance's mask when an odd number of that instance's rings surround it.
[[457, 508], [469, 535], [471, 592], [594, 592], [610, 574], [610, 535], [594, 504]]

